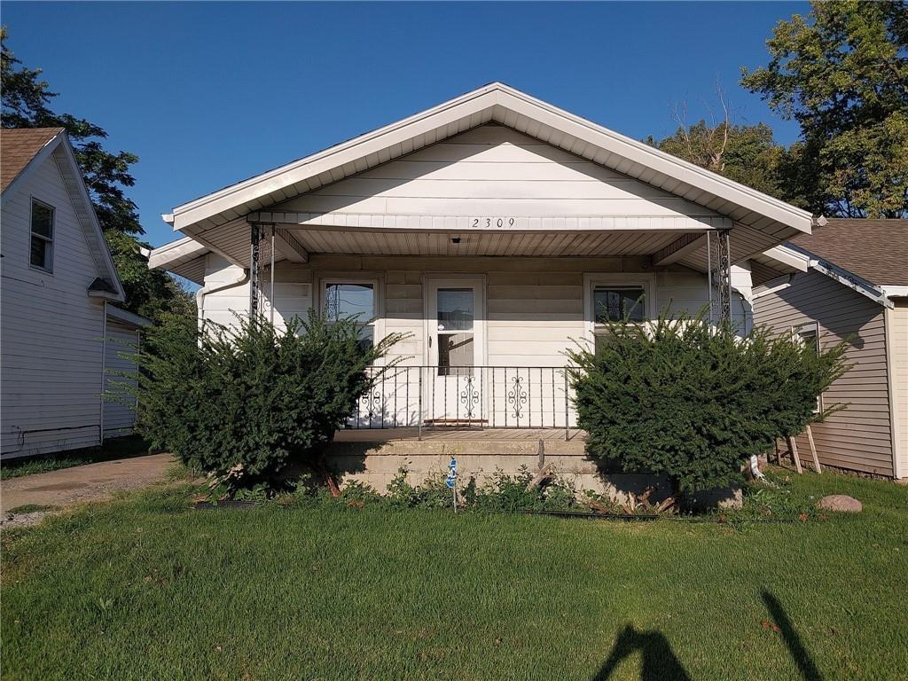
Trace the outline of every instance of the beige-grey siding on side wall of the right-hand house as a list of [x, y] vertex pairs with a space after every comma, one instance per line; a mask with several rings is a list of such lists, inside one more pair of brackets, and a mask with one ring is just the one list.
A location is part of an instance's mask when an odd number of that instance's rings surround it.
[[[824, 407], [847, 404], [815, 424], [820, 462], [843, 469], [893, 475], [883, 306], [815, 271], [795, 275], [792, 285], [755, 301], [755, 323], [777, 333], [817, 322], [828, 347], [848, 340], [854, 364], [824, 393]], [[800, 451], [809, 452], [805, 437]], [[803, 455], [803, 454], [802, 454]]]

